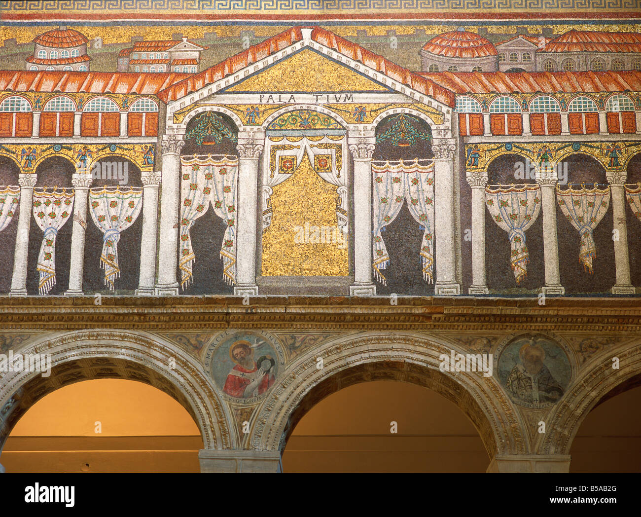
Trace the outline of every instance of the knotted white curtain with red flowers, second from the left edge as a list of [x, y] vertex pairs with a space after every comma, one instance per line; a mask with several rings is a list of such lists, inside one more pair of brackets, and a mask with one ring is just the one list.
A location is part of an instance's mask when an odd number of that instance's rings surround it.
[[37, 271], [40, 275], [38, 292], [47, 294], [56, 285], [56, 235], [69, 220], [74, 207], [73, 189], [34, 189], [33, 217], [38, 228], [44, 232]]

